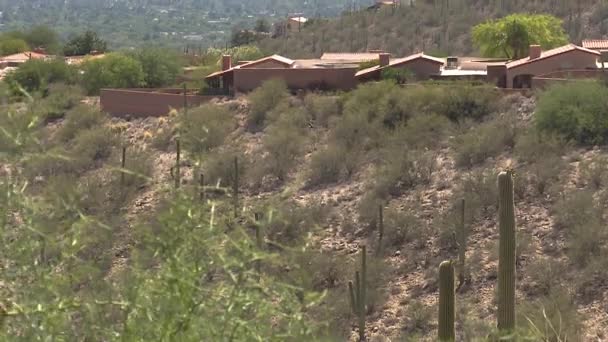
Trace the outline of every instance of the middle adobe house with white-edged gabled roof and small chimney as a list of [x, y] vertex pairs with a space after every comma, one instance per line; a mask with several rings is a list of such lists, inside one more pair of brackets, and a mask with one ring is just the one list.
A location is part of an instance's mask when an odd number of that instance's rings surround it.
[[355, 77], [359, 82], [379, 80], [383, 70], [394, 68], [408, 69], [417, 79], [428, 79], [433, 75], [440, 75], [444, 64], [445, 60], [425, 55], [423, 52], [393, 60], [390, 59], [390, 54], [381, 53], [378, 65], [360, 70]]

